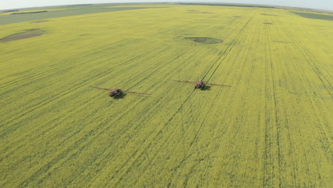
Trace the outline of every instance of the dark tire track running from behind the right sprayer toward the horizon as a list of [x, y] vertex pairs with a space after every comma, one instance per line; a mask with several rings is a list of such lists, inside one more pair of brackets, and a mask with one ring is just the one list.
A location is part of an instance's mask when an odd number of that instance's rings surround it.
[[245, 28], [248, 26], [248, 23], [251, 21], [251, 19], [253, 19], [253, 16], [255, 15], [255, 13], [256, 13], [256, 11], [253, 13], [253, 15], [250, 17], [250, 19], [248, 19], [248, 21], [245, 23], [245, 25], [243, 26], [243, 28], [240, 29], [239, 33], [237, 33], [237, 35], [235, 36], [235, 38], [233, 38], [233, 41], [231, 41], [231, 43], [223, 51], [223, 53], [221, 54], [221, 56], [219, 56], [216, 59], [216, 61], [211, 66], [211, 68], [209, 68], [208, 71], [206, 72], [206, 74], [203, 75], [203, 77], [201, 78], [201, 80], [204, 80], [206, 78], [206, 76], [211, 71], [211, 69], [216, 65], [216, 63], [218, 63], [218, 61], [223, 56], [223, 58], [221, 59], [220, 63], [217, 64], [216, 68], [213, 70], [213, 73], [211, 73], [211, 76], [208, 78], [208, 80], [206, 81], [206, 83], [208, 83], [211, 80], [211, 77], [213, 77], [213, 75], [215, 74], [215, 72], [218, 69], [218, 67], [221, 66], [221, 63], [226, 59], [226, 57], [228, 56], [228, 53], [230, 53], [230, 51], [233, 49], [233, 46], [235, 46], [238, 38], [240, 38], [240, 36], [244, 33]]

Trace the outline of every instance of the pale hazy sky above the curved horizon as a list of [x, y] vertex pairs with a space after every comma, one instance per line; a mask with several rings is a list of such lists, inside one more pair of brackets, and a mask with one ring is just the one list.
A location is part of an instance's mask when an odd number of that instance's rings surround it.
[[297, 6], [310, 9], [326, 9], [333, 11], [333, 0], [0, 0], [0, 10], [18, 9], [36, 6], [53, 6], [66, 4], [102, 4], [126, 2], [220, 2], [239, 4], [266, 4], [280, 6]]

